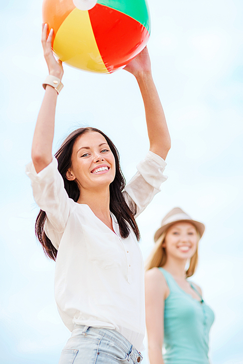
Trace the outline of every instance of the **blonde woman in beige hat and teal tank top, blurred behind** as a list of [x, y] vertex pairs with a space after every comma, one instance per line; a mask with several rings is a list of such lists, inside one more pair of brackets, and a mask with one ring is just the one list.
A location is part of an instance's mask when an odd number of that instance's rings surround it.
[[197, 266], [204, 230], [204, 224], [176, 207], [155, 233], [145, 273], [150, 364], [209, 363], [208, 334], [214, 314], [200, 287], [188, 281]]

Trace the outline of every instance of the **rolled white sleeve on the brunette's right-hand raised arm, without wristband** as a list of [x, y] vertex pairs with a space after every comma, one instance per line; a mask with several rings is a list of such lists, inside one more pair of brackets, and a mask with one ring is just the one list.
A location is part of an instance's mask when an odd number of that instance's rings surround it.
[[[159, 155], [149, 151], [144, 160], [137, 165], [138, 172], [126, 185], [126, 199], [132, 199], [137, 205], [136, 217], [160, 191], [160, 185], [167, 180], [163, 174], [166, 162]], [[129, 201], [128, 201], [129, 202]]]

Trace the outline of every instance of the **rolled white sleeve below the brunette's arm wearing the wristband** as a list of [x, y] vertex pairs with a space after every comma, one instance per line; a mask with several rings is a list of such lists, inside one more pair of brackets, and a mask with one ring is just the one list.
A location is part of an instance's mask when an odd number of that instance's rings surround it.
[[56, 158], [52, 158], [52, 162], [39, 173], [36, 173], [31, 161], [26, 165], [25, 172], [31, 179], [35, 202], [47, 214], [53, 229], [63, 232], [69, 216], [69, 197]]

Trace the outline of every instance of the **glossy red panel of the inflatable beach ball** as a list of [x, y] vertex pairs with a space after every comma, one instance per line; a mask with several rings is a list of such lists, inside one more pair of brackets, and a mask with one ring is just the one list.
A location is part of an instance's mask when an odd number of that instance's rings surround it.
[[110, 73], [128, 64], [145, 47], [149, 33], [132, 17], [101, 4], [88, 13], [98, 49]]

